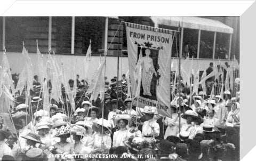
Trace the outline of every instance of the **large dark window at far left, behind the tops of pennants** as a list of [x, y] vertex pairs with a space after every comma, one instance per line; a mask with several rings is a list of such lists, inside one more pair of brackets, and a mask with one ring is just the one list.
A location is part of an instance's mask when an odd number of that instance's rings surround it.
[[22, 41], [30, 53], [36, 53], [36, 39], [41, 52], [48, 47], [48, 17], [5, 17], [5, 48], [21, 52]]

